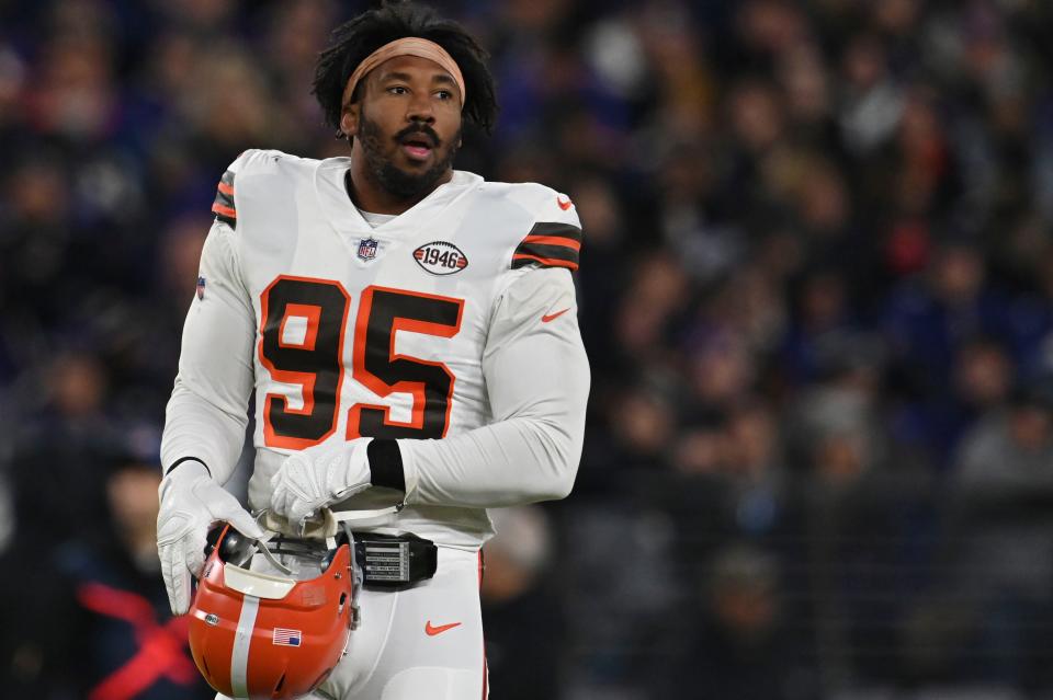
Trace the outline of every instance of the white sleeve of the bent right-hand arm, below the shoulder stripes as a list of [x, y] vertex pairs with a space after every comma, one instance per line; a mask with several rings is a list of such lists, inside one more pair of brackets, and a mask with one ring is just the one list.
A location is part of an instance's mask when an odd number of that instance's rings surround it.
[[[577, 225], [573, 213], [561, 218]], [[574, 282], [564, 267], [509, 276], [483, 353], [492, 422], [399, 440], [409, 505], [500, 507], [563, 498], [574, 485], [590, 382]]]

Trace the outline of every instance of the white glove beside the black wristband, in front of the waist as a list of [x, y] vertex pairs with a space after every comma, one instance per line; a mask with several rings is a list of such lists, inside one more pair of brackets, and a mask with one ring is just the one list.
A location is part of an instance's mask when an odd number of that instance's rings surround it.
[[271, 509], [293, 526], [319, 508], [369, 489], [372, 437], [337, 445], [316, 445], [285, 458], [271, 477]]

